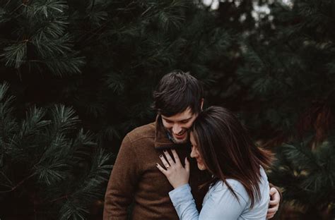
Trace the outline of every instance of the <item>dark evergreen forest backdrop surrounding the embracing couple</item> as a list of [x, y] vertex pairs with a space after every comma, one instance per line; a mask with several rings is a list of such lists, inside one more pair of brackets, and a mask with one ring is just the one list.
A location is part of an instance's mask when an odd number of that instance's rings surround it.
[[0, 0], [0, 218], [101, 219], [175, 69], [276, 153], [277, 219], [334, 219], [335, 1]]

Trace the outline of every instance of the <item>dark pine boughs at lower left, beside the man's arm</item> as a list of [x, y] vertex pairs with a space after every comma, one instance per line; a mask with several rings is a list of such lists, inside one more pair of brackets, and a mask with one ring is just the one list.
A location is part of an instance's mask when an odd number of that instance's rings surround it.
[[87, 219], [105, 193], [110, 154], [78, 129], [74, 109], [33, 106], [18, 118], [14, 100], [1, 84], [1, 218]]

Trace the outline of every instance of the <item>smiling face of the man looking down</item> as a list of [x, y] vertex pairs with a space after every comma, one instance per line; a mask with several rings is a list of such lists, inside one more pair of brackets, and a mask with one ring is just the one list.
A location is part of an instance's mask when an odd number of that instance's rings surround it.
[[163, 126], [170, 133], [175, 144], [184, 144], [189, 140], [189, 128], [191, 128], [197, 114], [193, 114], [190, 108], [181, 113], [167, 117], [162, 115]]

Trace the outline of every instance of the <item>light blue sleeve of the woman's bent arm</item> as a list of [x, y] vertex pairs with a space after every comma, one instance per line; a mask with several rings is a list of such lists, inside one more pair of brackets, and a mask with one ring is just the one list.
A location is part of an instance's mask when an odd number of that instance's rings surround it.
[[172, 190], [169, 195], [181, 220], [236, 220], [247, 206], [244, 197], [235, 190], [237, 198], [221, 182], [208, 191], [201, 212], [196, 210], [189, 185]]

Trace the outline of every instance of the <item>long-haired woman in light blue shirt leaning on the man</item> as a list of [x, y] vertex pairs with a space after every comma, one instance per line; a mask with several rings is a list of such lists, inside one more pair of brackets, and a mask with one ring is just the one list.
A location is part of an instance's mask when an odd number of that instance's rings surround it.
[[247, 130], [227, 109], [212, 106], [194, 121], [191, 157], [200, 170], [212, 174], [209, 190], [198, 213], [189, 187], [189, 161], [182, 166], [172, 150], [156, 164], [175, 190], [169, 195], [180, 219], [266, 219], [269, 183], [263, 167], [271, 154], [254, 145]]

